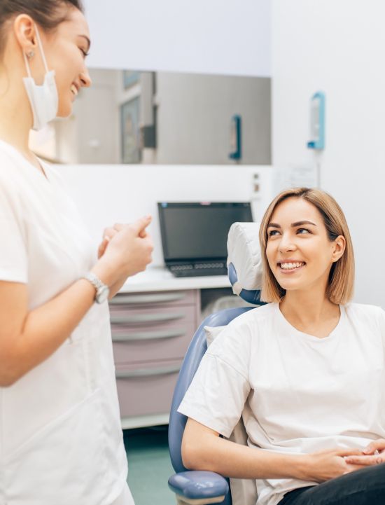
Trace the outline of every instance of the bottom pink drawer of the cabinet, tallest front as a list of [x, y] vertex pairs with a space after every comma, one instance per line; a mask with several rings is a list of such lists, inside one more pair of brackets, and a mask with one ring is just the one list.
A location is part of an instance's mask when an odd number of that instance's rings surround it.
[[116, 367], [120, 417], [169, 413], [179, 361]]

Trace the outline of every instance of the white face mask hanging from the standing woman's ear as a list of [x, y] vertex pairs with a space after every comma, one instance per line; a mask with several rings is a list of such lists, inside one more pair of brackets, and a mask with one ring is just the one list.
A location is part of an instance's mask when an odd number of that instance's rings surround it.
[[38, 34], [36, 25], [35, 28], [38, 46], [45, 67], [44, 82], [42, 85], [37, 85], [35, 83], [34, 78], [31, 76], [31, 69], [29, 68], [29, 62], [24, 51], [23, 55], [25, 59], [25, 66], [27, 67], [28, 77], [24, 77], [23, 81], [25, 89], [27, 90], [29, 103], [31, 104], [32, 113], [34, 115], [34, 125], [32, 128], [34, 130], [41, 130], [41, 128], [43, 128], [52, 119], [56, 118], [59, 99], [57, 97], [55, 71], [48, 71], [47, 62], [45, 61], [45, 55], [43, 52], [43, 46], [41, 44], [41, 39]]

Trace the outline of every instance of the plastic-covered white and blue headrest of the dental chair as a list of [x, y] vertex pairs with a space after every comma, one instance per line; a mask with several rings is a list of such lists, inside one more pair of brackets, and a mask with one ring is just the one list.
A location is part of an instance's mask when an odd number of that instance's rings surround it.
[[233, 223], [228, 234], [228, 275], [232, 291], [248, 303], [259, 303], [262, 287], [260, 223]]

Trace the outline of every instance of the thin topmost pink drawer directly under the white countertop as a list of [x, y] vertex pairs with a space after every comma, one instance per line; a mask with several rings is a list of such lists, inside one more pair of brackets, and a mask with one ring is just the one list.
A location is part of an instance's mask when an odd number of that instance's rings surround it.
[[110, 300], [110, 310], [113, 312], [116, 307], [125, 305], [129, 307], [137, 305], [147, 305], [156, 307], [156, 305], [178, 306], [194, 305], [197, 303], [198, 291], [190, 289], [188, 291], [151, 291], [150, 293], [118, 293]]

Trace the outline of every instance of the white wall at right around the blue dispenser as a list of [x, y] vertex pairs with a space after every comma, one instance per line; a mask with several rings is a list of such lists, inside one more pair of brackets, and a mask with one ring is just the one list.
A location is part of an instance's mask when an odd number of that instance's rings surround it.
[[314, 162], [309, 97], [326, 94], [321, 187], [348, 219], [356, 300], [385, 307], [385, 2], [272, 1], [273, 165]]

